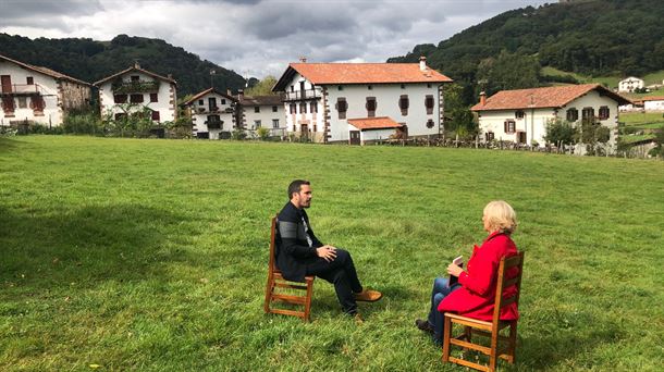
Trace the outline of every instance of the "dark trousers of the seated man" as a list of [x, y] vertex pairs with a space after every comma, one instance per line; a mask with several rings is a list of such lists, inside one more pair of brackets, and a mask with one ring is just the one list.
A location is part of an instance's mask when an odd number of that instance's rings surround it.
[[328, 262], [322, 258], [307, 265], [307, 275], [316, 275], [332, 284], [339, 302], [346, 313], [357, 312], [357, 302], [354, 293], [362, 292], [362, 286], [357, 277], [355, 264], [351, 253], [344, 249], [336, 249], [334, 261]]

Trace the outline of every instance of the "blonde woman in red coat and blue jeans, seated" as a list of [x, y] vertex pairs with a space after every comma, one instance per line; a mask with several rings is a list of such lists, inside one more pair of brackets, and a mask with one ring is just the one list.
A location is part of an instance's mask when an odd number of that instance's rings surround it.
[[[499, 264], [503, 257], [517, 255], [511, 235], [516, 228], [516, 213], [505, 201], [491, 201], [482, 215], [484, 231], [489, 233], [481, 247], [475, 246], [466, 271], [460, 265], [450, 263], [447, 278], [436, 277], [431, 292], [431, 308], [427, 320], [418, 319], [415, 324], [421, 331], [432, 334], [438, 344], [443, 337], [443, 313], [455, 312], [464, 317], [491, 321], [497, 282]], [[456, 260], [455, 260], [456, 261]], [[518, 274], [518, 269], [506, 273], [508, 278]], [[516, 287], [505, 288], [504, 294]], [[501, 311], [501, 320], [516, 320], [519, 313], [516, 303]]]

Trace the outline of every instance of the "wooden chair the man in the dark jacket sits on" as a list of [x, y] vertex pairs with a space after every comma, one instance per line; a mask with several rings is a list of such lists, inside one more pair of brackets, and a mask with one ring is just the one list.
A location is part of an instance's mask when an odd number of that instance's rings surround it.
[[[305, 283], [296, 283], [286, 281], [281, 271], [275, 264], [275, 239], [278, 235], [276, 216], [272, 218], [272, 228], [270, 230], [270, 263], [268, 266], [268, 284], [266, 286], [266, 301], [265, 311], [266, 313], [276, 313], [284, 315], [293, 315], [302, 318], [303, 321], [309, 321], [309, 311], [311, 310], [311, 295], [313, 294], [313, 280], [316, 276], [305, 276]], [[305, 290], [306, 295], [295, 296], [283, 293], [276, 293], [276, 288], [290, 288], [297, 292]], [[304, 306], [303, 311], [287, 310], [287, 309], [275, 309], [273, 306], [275, 301], [293, 303], [297, 306]], [[271, 307], [272, 306], [272, 307]]]

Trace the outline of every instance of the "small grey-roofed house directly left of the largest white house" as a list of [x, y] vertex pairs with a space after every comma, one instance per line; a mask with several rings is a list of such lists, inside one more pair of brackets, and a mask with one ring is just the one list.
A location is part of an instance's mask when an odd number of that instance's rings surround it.
[[270, 129], [270, 136], [285, 136], [286, 115], [280, 95], [245, 96], [237, 92], [239, 102], [239, 123], [245, 129], [255, 133], [259, 127]]

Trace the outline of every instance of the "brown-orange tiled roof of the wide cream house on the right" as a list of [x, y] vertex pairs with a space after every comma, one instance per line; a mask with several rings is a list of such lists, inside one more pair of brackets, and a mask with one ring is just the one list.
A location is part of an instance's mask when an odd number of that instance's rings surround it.
[[631, 103], [627, 98], [613, 92], [599, 84], [581, 84], [546, 88], [501, 90], [487, 98], [485, 104], [478, 103], [470, 108], [470, 110], [490, 111], [562, 108], [592, 90], [598, 90], [600, 95], [613, 98], [618, 104]]

